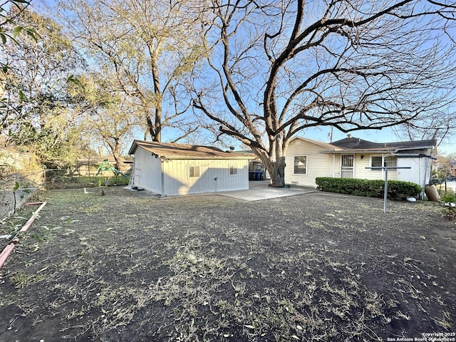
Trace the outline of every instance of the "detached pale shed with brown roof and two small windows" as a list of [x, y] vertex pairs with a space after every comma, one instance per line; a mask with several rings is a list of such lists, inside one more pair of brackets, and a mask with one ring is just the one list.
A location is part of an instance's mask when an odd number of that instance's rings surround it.
[[162, 196], [249, 189], [252, 153], [135, 140], [130, 187]]

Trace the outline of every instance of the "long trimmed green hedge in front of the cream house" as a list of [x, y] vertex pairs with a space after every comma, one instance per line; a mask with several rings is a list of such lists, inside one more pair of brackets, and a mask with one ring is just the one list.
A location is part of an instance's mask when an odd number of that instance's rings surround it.
[[[385, 194], [384, 180], [360, 180], [357, 178], [318, 177], [315, 180], [318, 188], [327, 192], [356, 195], [364, 197], [383, 197]], [[413, 182], [388, 180], [388, 198], [404, 199], [416, 197], [423, 187]]]

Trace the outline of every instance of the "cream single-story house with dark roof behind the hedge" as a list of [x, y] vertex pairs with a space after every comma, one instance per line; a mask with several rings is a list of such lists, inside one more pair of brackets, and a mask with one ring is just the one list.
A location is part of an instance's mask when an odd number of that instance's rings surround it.
[[436, 140], [370, 142], [348, 135], [331, 143], [295, 137], [286, 152], [285, 182], [315, 187], [316, 177], [385, 179], [385, 171], [369, 167], [410, 167], [388, 169], [388, 180], [414, 182], [425, 187], [430, 181]]

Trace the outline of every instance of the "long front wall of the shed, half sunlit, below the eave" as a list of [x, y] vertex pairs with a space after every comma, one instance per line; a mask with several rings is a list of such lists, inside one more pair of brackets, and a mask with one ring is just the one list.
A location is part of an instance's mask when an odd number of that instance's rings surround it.
[[[237, 175], [229, 175], [230, 166]], [[190, 177], [190, 167], [199, 169], [199, 177]], [[248, 160], [170, 160], [163, 172], [163, 196], [249, 189]]]

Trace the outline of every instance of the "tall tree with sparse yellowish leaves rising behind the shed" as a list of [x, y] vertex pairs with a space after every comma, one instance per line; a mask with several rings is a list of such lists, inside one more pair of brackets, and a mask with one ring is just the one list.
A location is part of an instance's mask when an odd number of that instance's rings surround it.
[[[63, 0], [58, 9], [68, 33], [90, 56], [93, 68], [109, 71], [154, 141], [165, 128], [174, 140], [195, 133], [185, 78], [202, 51], [189, 1]], [[176, 131], [176, 130], [175, 130]]]

